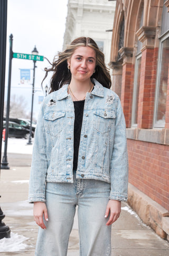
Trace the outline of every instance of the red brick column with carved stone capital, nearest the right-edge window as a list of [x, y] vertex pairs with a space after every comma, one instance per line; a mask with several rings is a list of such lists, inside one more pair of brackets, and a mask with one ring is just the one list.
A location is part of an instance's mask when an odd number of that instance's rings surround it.
[[156, 28], [140, 28], [136, 35], [143, 42], [142, 62], [140, 69], [140, 86], [138, 98], [137, 127], [151, 129], [153, 127], [153, 109], [156, 83], [158, 48], [154, 48]]

